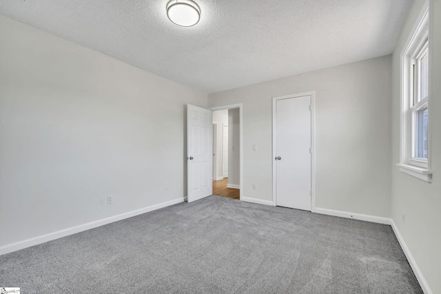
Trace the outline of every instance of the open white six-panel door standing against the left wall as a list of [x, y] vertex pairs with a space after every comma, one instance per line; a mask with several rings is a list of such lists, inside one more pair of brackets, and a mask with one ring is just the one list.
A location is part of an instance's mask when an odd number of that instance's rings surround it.
[[187, 105], [187, 201], [213, 193], [213, 116], [211, 110]]

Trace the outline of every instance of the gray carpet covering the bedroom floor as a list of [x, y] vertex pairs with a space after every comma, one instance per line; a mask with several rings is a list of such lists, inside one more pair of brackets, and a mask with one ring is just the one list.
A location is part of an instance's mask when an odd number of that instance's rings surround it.
[[210, 196], [0, 256], [21, 293], [422, 293], [390, 226]]

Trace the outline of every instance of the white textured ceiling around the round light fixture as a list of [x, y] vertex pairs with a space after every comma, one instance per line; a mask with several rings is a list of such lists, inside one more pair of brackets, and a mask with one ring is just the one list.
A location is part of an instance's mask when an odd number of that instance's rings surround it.
[[413, 0], [0, 0], [0, 14], [203, 92], [390, 54]]

